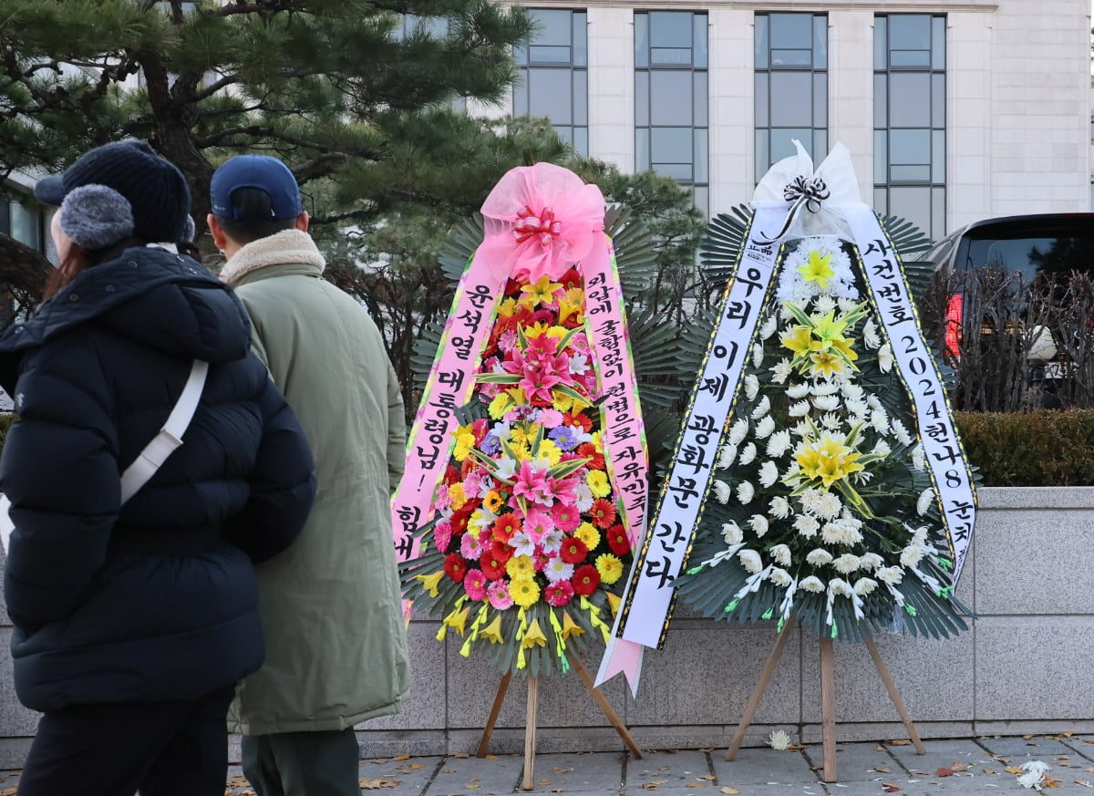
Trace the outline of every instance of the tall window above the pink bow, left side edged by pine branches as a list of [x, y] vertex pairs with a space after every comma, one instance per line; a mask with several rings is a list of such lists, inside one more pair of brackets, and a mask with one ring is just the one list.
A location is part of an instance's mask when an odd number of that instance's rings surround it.
[[589, 38], [585, 12], [529, 9], [535, 37], [517, 47], [515, 116], [546, 116], [578, 154], [589, 154]]

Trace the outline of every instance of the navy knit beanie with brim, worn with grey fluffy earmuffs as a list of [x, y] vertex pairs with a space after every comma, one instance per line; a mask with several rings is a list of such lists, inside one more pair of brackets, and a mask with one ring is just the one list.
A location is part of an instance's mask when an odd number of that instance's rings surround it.
[[132, 234], [150, 243], [176, 243], [186, 233], [190, 189], [183, 173], [147, 141], [130, 139], [84, 153], [58, 177], [46, 177], [34, 196], [60, 206], [73, 189], [105, 185], [129, 201]]

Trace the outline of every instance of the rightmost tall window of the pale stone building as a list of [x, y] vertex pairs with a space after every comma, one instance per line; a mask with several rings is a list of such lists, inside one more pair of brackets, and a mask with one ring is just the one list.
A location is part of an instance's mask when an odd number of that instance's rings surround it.
[[946, 17], [874, 17], [874, 208], [946, 225]]

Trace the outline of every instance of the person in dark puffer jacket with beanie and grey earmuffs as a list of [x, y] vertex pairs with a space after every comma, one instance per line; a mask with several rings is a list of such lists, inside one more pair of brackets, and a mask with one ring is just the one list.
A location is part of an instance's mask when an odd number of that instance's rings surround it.
[[[61, 206], [61, 264], [0, 337], [20, 415], [0, 461], [15, 691], [44, 712], [19, 792], [220, 796], [234, 684], [264, 658], [253, 563], [300, 532], [311, 452], [234, 293], [148, 245], [189, 222], [174, 165], [107, 144], [35, 194]], [[195, 360], [209, 371], [184, 444], [123, 504], [120, 472]]]

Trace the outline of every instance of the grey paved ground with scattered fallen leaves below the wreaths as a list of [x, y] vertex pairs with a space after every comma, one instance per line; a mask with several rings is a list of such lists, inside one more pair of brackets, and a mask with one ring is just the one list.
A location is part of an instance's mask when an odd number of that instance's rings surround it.
[[[1029, 794], [1017, 781], [1023, 763], [1049, 768], [1047, 794], [1094, 796], [1094, 735], [929, 740], [920, 757], [911, 746], [840, 744], [838, 782], [819, 781], [819, 745], [789, 751], [742, 749], [726, 762], [723, 749], [653, 751], [641, 760], [621, 752], [538, 754], [535, 793], [585, 796], [966, 796]], [[432, 757], [361, 761], [363, 796], [501, 796], [521, 793], [521, 756]], [[0, 772], [0, 796], [11, 796], [16, 772]], [[253, 796], [237, 766], [225, 796]]]

